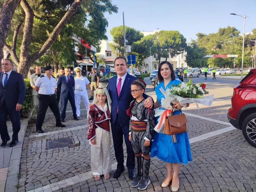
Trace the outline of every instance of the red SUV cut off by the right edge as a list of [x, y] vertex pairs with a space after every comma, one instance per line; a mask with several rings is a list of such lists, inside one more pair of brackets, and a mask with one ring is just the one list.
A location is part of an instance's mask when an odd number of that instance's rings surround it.
[[249, 144], [256, 147], [256, 68], [234, 87], [228, 120], [241, 129]]

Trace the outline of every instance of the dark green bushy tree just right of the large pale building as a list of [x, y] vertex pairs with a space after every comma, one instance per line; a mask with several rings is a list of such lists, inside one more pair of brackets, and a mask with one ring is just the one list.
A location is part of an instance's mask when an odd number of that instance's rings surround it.
[[206, 66], [206, 58], [204, 56], [206, 55], [206, 49], [199, 48], [195, 43], [191, 43], [190, 46], [186, 48], [186, 63], [190, 67], [204, 67]]

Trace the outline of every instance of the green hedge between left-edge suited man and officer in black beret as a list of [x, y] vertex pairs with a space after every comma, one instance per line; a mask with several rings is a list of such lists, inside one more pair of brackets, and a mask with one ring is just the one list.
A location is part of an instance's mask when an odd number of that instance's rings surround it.
[[24, 81], [26, 85], [26, 97], [20, 110], [20, 116], [23, 118], [29, 118], [31, 110], [34, 109], [33, 94], [29, 78], [24, 79]]

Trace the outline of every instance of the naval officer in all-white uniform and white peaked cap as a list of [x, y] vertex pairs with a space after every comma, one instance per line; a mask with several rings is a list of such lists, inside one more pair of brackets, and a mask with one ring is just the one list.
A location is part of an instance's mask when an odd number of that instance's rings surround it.
[[91, 91], [91, 94], [93, 94], [93, 91], [91, 89], [90, 81], [87, 79], [87, 77], [84, 77], [82, 75], [82, 68], [81, 67], [75, 67], [74, 71], [76, 72], [75, 77], [75, 107], [76, 107], [76, 115], [77, 118], [80, 117], [80, 101], [81, 98], [84, 101], [85, 109], [88, 110], [88, 106], [90, 104], [86, 85], [88, 86], [89, 90]]

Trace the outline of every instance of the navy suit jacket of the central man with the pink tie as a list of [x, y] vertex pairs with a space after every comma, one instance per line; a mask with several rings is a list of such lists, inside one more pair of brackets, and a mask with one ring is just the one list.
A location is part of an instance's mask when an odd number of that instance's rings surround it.
[[[131, 83], [134, 82], [137, 77], [127, 73], [125, 77], [124, 84], [122, 86], [120, 95], [117, 95], [117, 75], [109, 79], [108, 81], [108, 92], [112, 100], [111, 104], [111, 119], [110, 123], [114, 124], [117, 117], [117, 107], [118, 115], [120, 118], [120, 123], [122, 126], [129, 126], [130, 116], [127, 115], [126, 110], [130, 106], [130, 102], [134, 100], [131, 96]], [[144, 98], [148, 98], [148, 95], [143, 94]]]

